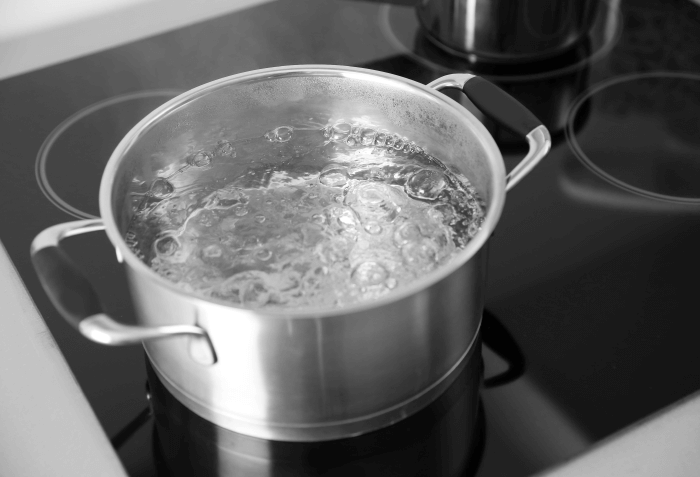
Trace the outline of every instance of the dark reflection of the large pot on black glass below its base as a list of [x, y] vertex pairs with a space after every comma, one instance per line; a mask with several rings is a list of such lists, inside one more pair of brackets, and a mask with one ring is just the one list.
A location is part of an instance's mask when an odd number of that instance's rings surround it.
[[180, 404], [148, 367], [153, 446], [172, 476], [469, 477], [479, 466], [484, 415], [477, 354], [432, 404], [386, 429], [322, 443], [267, 441], [207, 422]]

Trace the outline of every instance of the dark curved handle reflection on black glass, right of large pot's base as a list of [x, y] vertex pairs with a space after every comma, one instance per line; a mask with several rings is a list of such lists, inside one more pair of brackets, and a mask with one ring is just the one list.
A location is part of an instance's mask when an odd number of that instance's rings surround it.
[[525, 373], [525, 355], [520, 346], [503, 323], [488, 310], [484, 310], [481, 337], [486, 346], [508, 363], [504, 372], [484, 380], [485, 388], [510, 383]]

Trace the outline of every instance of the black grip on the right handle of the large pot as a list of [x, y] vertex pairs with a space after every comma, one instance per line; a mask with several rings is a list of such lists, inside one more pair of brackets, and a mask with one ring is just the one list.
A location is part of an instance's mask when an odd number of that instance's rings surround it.
[[517, 99], [480, 76], [467, 81], [462, 91], [487, 117], [516, 134], [526, 136], [542, 125], [542, 121]]

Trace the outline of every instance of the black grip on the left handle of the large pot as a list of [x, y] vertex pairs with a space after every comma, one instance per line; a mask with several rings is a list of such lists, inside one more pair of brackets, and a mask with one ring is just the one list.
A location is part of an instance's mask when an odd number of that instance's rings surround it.
[[61, 249], [43, 248], [32, 254], [32, 263], [51, 302], [73, 326], [102, 313], [90, 281]]

